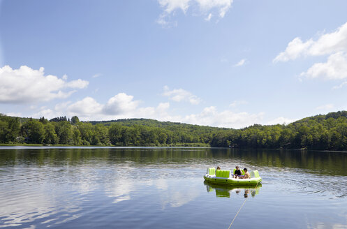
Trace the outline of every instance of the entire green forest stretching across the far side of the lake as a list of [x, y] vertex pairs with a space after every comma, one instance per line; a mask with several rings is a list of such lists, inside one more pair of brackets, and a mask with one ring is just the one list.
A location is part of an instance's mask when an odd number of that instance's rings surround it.
[[0, 114], [0, 143], [7, 145], [193, 146], [347, 150], [347, 111], [300, 119], [288, 125], [242, 129], [152, 119], [47, 120]]

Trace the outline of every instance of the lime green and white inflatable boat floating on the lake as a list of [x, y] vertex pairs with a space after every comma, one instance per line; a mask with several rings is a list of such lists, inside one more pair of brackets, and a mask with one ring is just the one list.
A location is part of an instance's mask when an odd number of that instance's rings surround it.
[[216, 170], [216, 168], [207, 168], [204, 179], [211, 184], [233, 185], [233, 186], [256, 186], [261, 182], [258, 170], [250, 172], [249, 179], [236, 179], [230, 176], [230, 170]]

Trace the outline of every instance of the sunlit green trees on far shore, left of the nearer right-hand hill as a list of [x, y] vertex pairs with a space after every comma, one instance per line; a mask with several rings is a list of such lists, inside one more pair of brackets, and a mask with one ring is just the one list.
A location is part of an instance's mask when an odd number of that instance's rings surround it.
[[[188, 124], [159, 124], [150, 119], [129, 119], [109, 123], [84, 122], [78, 117], [47, 120], [0, 115], [0, 143], [98, 146], [208, 146], [214, 128]], [[164, 125], [165, 128], [160, 127]], [[169, 126], [169, 127], [168, 127]]]

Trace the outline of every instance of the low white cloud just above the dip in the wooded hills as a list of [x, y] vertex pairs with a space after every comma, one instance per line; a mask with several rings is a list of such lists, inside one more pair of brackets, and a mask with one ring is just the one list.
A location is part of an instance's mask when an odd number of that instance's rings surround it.
[[232, 112], [224, 110], [218, 112], [216, 107], [207, 107], [199, 114], [190, 114], [182, 119], [183, 122], [189, 124], [198, 124], [204, 126], [218, 126], [230, 128], [243, 128], [263, 120], [263, 112], [258, 114], [249, 114], [247, 112]]

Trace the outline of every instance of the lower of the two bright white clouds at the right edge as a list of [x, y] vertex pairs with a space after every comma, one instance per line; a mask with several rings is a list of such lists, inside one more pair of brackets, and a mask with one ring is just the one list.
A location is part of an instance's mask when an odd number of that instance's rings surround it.
[[316, 63], [301, 73], [300, 76], [309, 78], [323, 77], [327, 80], [341, 80], [347, 77], [347, 54], [337, 52], [331, 54], [325, 63]]

